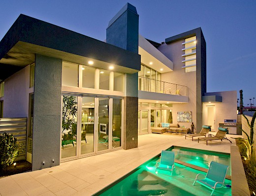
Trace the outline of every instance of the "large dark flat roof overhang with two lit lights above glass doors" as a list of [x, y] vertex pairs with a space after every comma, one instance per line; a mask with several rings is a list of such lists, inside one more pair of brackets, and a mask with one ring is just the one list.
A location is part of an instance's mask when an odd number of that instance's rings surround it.
[[96, 68], [115, 65], [121, 73], [140, 70], [136, 53], [21, 14], [0, 41], [0, 79], [33, 63], [35, 54], [82, 65], [94, 60]]

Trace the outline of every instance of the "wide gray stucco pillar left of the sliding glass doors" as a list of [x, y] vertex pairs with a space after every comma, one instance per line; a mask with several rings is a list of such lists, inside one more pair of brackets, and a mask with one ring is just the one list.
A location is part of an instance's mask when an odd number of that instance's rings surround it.
[[34, 78], [32, 171], [60, 165], [62, 59], [36, 54]]

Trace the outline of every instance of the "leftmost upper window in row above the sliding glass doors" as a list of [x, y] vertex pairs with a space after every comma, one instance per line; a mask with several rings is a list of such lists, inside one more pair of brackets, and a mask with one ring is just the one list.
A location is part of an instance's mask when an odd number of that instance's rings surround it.
[[62, 62], [62, 85], [78, 87], [78, 64]]

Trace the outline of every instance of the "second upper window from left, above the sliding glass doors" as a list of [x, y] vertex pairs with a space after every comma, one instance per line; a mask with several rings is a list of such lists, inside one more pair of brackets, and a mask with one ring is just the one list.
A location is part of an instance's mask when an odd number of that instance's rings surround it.
[[83, 88], [95, 88], [95, 68], [89, 66], [82, 67], [83, 74]]

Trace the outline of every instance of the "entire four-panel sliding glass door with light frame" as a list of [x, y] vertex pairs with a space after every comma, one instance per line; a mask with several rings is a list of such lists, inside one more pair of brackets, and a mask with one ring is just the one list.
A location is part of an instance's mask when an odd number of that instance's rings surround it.
[[61, 160], [122, 147], [122, 98], [63, 95]]

